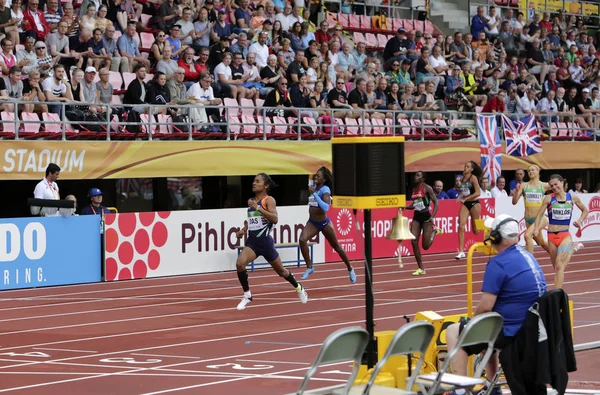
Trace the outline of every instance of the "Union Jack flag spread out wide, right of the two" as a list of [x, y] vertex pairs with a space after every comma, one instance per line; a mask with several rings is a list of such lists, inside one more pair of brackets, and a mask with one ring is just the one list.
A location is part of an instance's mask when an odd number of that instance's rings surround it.
[[512, 156], [529, 156], [542, 152], [542, 144], [537, 133], [533, 114], [513, 121], [502, 115], [504, 136], [506, 137], [506, 154]]

